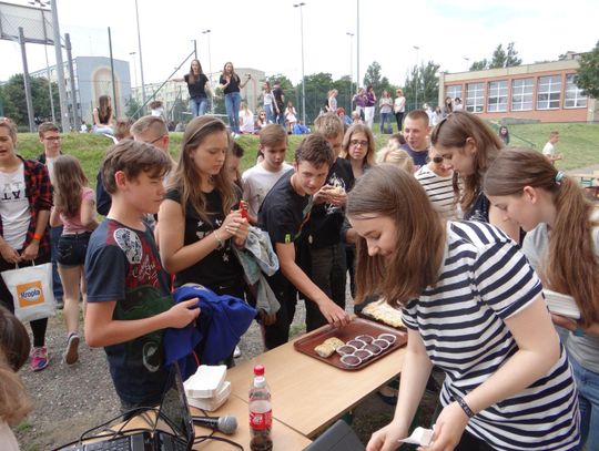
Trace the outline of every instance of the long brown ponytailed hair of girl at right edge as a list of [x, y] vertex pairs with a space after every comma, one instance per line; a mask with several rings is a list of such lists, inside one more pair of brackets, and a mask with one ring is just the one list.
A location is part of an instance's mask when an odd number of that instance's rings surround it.
[[592, 239], [599, 221], [591, 219], [593, 206], [573, 180], [556, 178], [558, 171], [540, 153], [511, 147], [501, 151], [487, 170], [485, 194], [519, 197], [531, 186], [551, 195], [556, 223], [539, 274], [545, 286], [575, 298], [588, 327], [599, 321], [599, 263]]

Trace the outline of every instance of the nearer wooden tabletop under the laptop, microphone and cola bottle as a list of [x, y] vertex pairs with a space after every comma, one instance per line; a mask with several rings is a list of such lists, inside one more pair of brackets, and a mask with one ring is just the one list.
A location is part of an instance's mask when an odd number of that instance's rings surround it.
[[[250, 386], [247, 386], [250, 387]], [[201, 416], [200, 410], [191, 408], [193, 416]], [[231, 396], [229, 400], [216, 411], [209, 412], [211, 417], [234, 416], [237, 418], [237, 430], [232, 435], [225, 435], [216, 432], [215, 435], [224, 437], [229, 440], [233, 440], [240, 443], [244, 449], [250, 449], [250, 418], [247, 400], [241, 399], [236, 396]], [[195, 437], [207, 435], [211, 432], [210, 429], [195, 427]], [[309, 439], [302, 435], [300, 432], [294, 431], [292, 428], [283, 424], [281, 421], [273, 419], [273, 443], [274, 450], [281, 451], [300, 451], [306, 448], [311, 442]], [[223, 442], [215, 440], [207, 440], [203, 443], [197, 443], [193, 447], [194, 450], [202, 451], [217, 451], [223, 449], [233, 449]]]

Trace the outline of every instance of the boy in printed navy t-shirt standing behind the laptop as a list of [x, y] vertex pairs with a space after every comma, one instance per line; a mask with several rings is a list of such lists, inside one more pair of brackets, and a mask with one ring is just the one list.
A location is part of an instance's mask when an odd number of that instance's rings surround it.
[[102, 163], [112, 205], [85, 258], [85, 340], [104, 347], [123, 411], [160, 402], [169, 376], [163, 329], [200, 315], [197, 299], [173, 306], [154, 237], [142, 221], [158, 213], [170, 167], [164, 152], [131, 140], [111, 147]]

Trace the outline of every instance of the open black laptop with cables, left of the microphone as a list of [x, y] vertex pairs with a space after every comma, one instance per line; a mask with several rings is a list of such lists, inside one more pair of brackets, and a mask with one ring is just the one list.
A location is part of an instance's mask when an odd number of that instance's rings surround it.
[[166, 389], [152, 431], [105, 438], [93, 443], [61, 448], [61, 451], [191, 451], [193, 421], [179, 365], [171, 366]]

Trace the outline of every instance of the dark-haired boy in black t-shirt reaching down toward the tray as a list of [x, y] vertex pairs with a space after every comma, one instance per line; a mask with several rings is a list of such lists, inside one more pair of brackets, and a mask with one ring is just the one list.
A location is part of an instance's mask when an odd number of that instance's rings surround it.
[[294, 171], [285, 173], [276, 182], [260, 208], [258, 225], [268, 233], [281, 266], [270, 279], [281, 309], [276, 312], [275, 322], [265, 328], [267, 349], [283, 345], [290, 338], [296, 290], [308, 299], [306, 304], [316, 304], [328, 322], [334, 326], [349, 322], [345, 310], [318, 288], [296, 262], [296, 240], [309, 217], [313, 196], [323, 187], [334, 157], [323, 135], [315, 133], [304, 139], [295, 151]]

